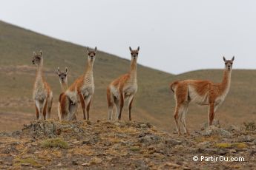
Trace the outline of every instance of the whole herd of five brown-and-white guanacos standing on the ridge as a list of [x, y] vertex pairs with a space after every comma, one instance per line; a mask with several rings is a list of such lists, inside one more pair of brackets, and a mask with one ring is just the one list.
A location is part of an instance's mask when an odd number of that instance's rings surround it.
[[[122, 109], [124, 102], [128, 101], [129, 120], [131, 120], [131, 108], [134, 101], [134, 95], [137, 93], [137, 58], [140, 47], [131, 52], [131, 67], [130, 72], [116, 78], [107, 87], [107, 101], [108, 101], [108, 120], [113, 120], [113, 107], [116, 107], [116, 120], [121, 120]], [[71, 121], [76, 120], [76, 113], [79, 103], [82, 107], [82, 112], [85, 120], [89, 120], [91, 98], [94, 93], [93, 83], [93, 64], [95, 61], [97, 49], [89, 50], [87, 48], [88, 62], [85, 67], [85, 72], [71, 86], [68, 86], [68, 67], [64, 72], [61, 72], [59, 67], [57, 74], [59, 75], [59, 82], [62, 89], [62, 94], [59, 95], [58, 103], [58, 118], [59, 120]], [[43, 75], [43, 55], [42, 51], [39, 54], [33, 52], [32, 63], [37, 66], [36, 81], [33, 88], [33, 100], [36, 106], [36, 118], [38, 120], [47, 120], [50, 118], [50, 111], [53, 103], [53, 92], [49, 84], [45, 81]], [[226, 60], [225, 69], [223, 73], [223, 81], [215, 84], [211, 81], [200, 80], [185, 80], [175, 81], [170, 85], [170, 89], [174, 92], [174, 99], [176, 101], [174, 120], [177, 127], [177, 132], [180, 135], [180, 126], [186, 135], [189, 135], [186, 126], [186, 113], [188, 112], [189, 103], [197, 103], [198, 105], [209, 106], [209, 126], [214, 120], [214, 114], [217, 108], [223, 103], [226, 95], [230, 89], [232, 60]]]

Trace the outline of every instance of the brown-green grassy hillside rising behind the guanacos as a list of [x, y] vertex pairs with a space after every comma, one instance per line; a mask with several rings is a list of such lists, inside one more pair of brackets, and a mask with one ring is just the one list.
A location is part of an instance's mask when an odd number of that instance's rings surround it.
[[[100, 50], [100, 47], [98, 48]], [[32, 65], [31, 58], [33, 51], [38, 50], [44, 53], [45, 78], [53, 88], [53, 118], [56, 118], [56, 103], [60, 93], [56, 68], [68, 67], [70, 84], [85, 69], [87, 57], [85, 47], [59, 41], [0, 21], [0, 131], [18, 129], [23, 123], [35, 119], [32, 88], [36, 68]], [[127, 50], [127, 55], [129, 55], [128, 49], [124, 50]], [[220, 58], [220, 64], [223, 64], [222, 58]], [[91, 109], [92, 120], [108, 118], [106, 86], [117, 76], [128, 72], [129, 65], [128, 60], [105, 52], [97, 53], [94, 65], [96, 90]], [[255, 119], [255, 76], [255, 70], [234, 70], [231, 91], [217, 113], [217, 118], [222, 119], [221, 123], [243, 123], [244, 120]], [[139, 65], [139, 90], [134, 101], [132, 117], [135, 120], [151, 122], [160, 129], [172, 130], [174, 128], [172, 118], [174, 99], [168, 89], [168, 84], [186, 78], [221, 81], [222, 71], [200, 70], [182, 75], [171, 75]], [[127, 115], [128, 112], [125, 109], [123, 119], [127, 120]], [[82, 118], [81, 110], [79, 110], [79, 118]], [[190, 128], [198, 128], [206, 120], [206, 107], [190, 106], [188, 111]]]

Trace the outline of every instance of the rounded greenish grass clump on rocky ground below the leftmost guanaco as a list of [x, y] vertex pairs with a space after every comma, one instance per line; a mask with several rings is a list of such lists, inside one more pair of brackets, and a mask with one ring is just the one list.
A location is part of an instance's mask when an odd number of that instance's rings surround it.
[[68, 149], [68, 143], [65, 140], [60, 138], [53, 138], [43, 140], [41, 143], [43, 148], [61, 148], [61, 149]]

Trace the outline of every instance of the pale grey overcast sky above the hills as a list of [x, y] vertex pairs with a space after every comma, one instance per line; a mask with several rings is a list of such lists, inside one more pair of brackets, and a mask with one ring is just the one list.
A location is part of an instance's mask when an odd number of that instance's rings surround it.
[[255, 0], [2, 0], [0, 19], [165, 72], [256, 67]]

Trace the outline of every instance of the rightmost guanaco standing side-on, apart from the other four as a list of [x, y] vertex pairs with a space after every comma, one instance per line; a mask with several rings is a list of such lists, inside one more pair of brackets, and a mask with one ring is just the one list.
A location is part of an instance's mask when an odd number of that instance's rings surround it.
[[178, 120], [181, 121], [183, 129], [189, 135], [186, 127], [186, 112], [188, 111], [188, 103], [194, 101], [199, 105], [209, 105], [209, 126], [214, 120], [214, 113], [217, 107], [223, 103], [230, 88], [232, 60], [227, 61], [223, 58], [226, 68], [221, 83], [213, 83], [211, 81], [186, 80], [175, 81], [170, 85], [170, 89], [174, 92], [176, 107], [174, 111], [174, 120], [177, 131], [180, 134], [180, 126]]

